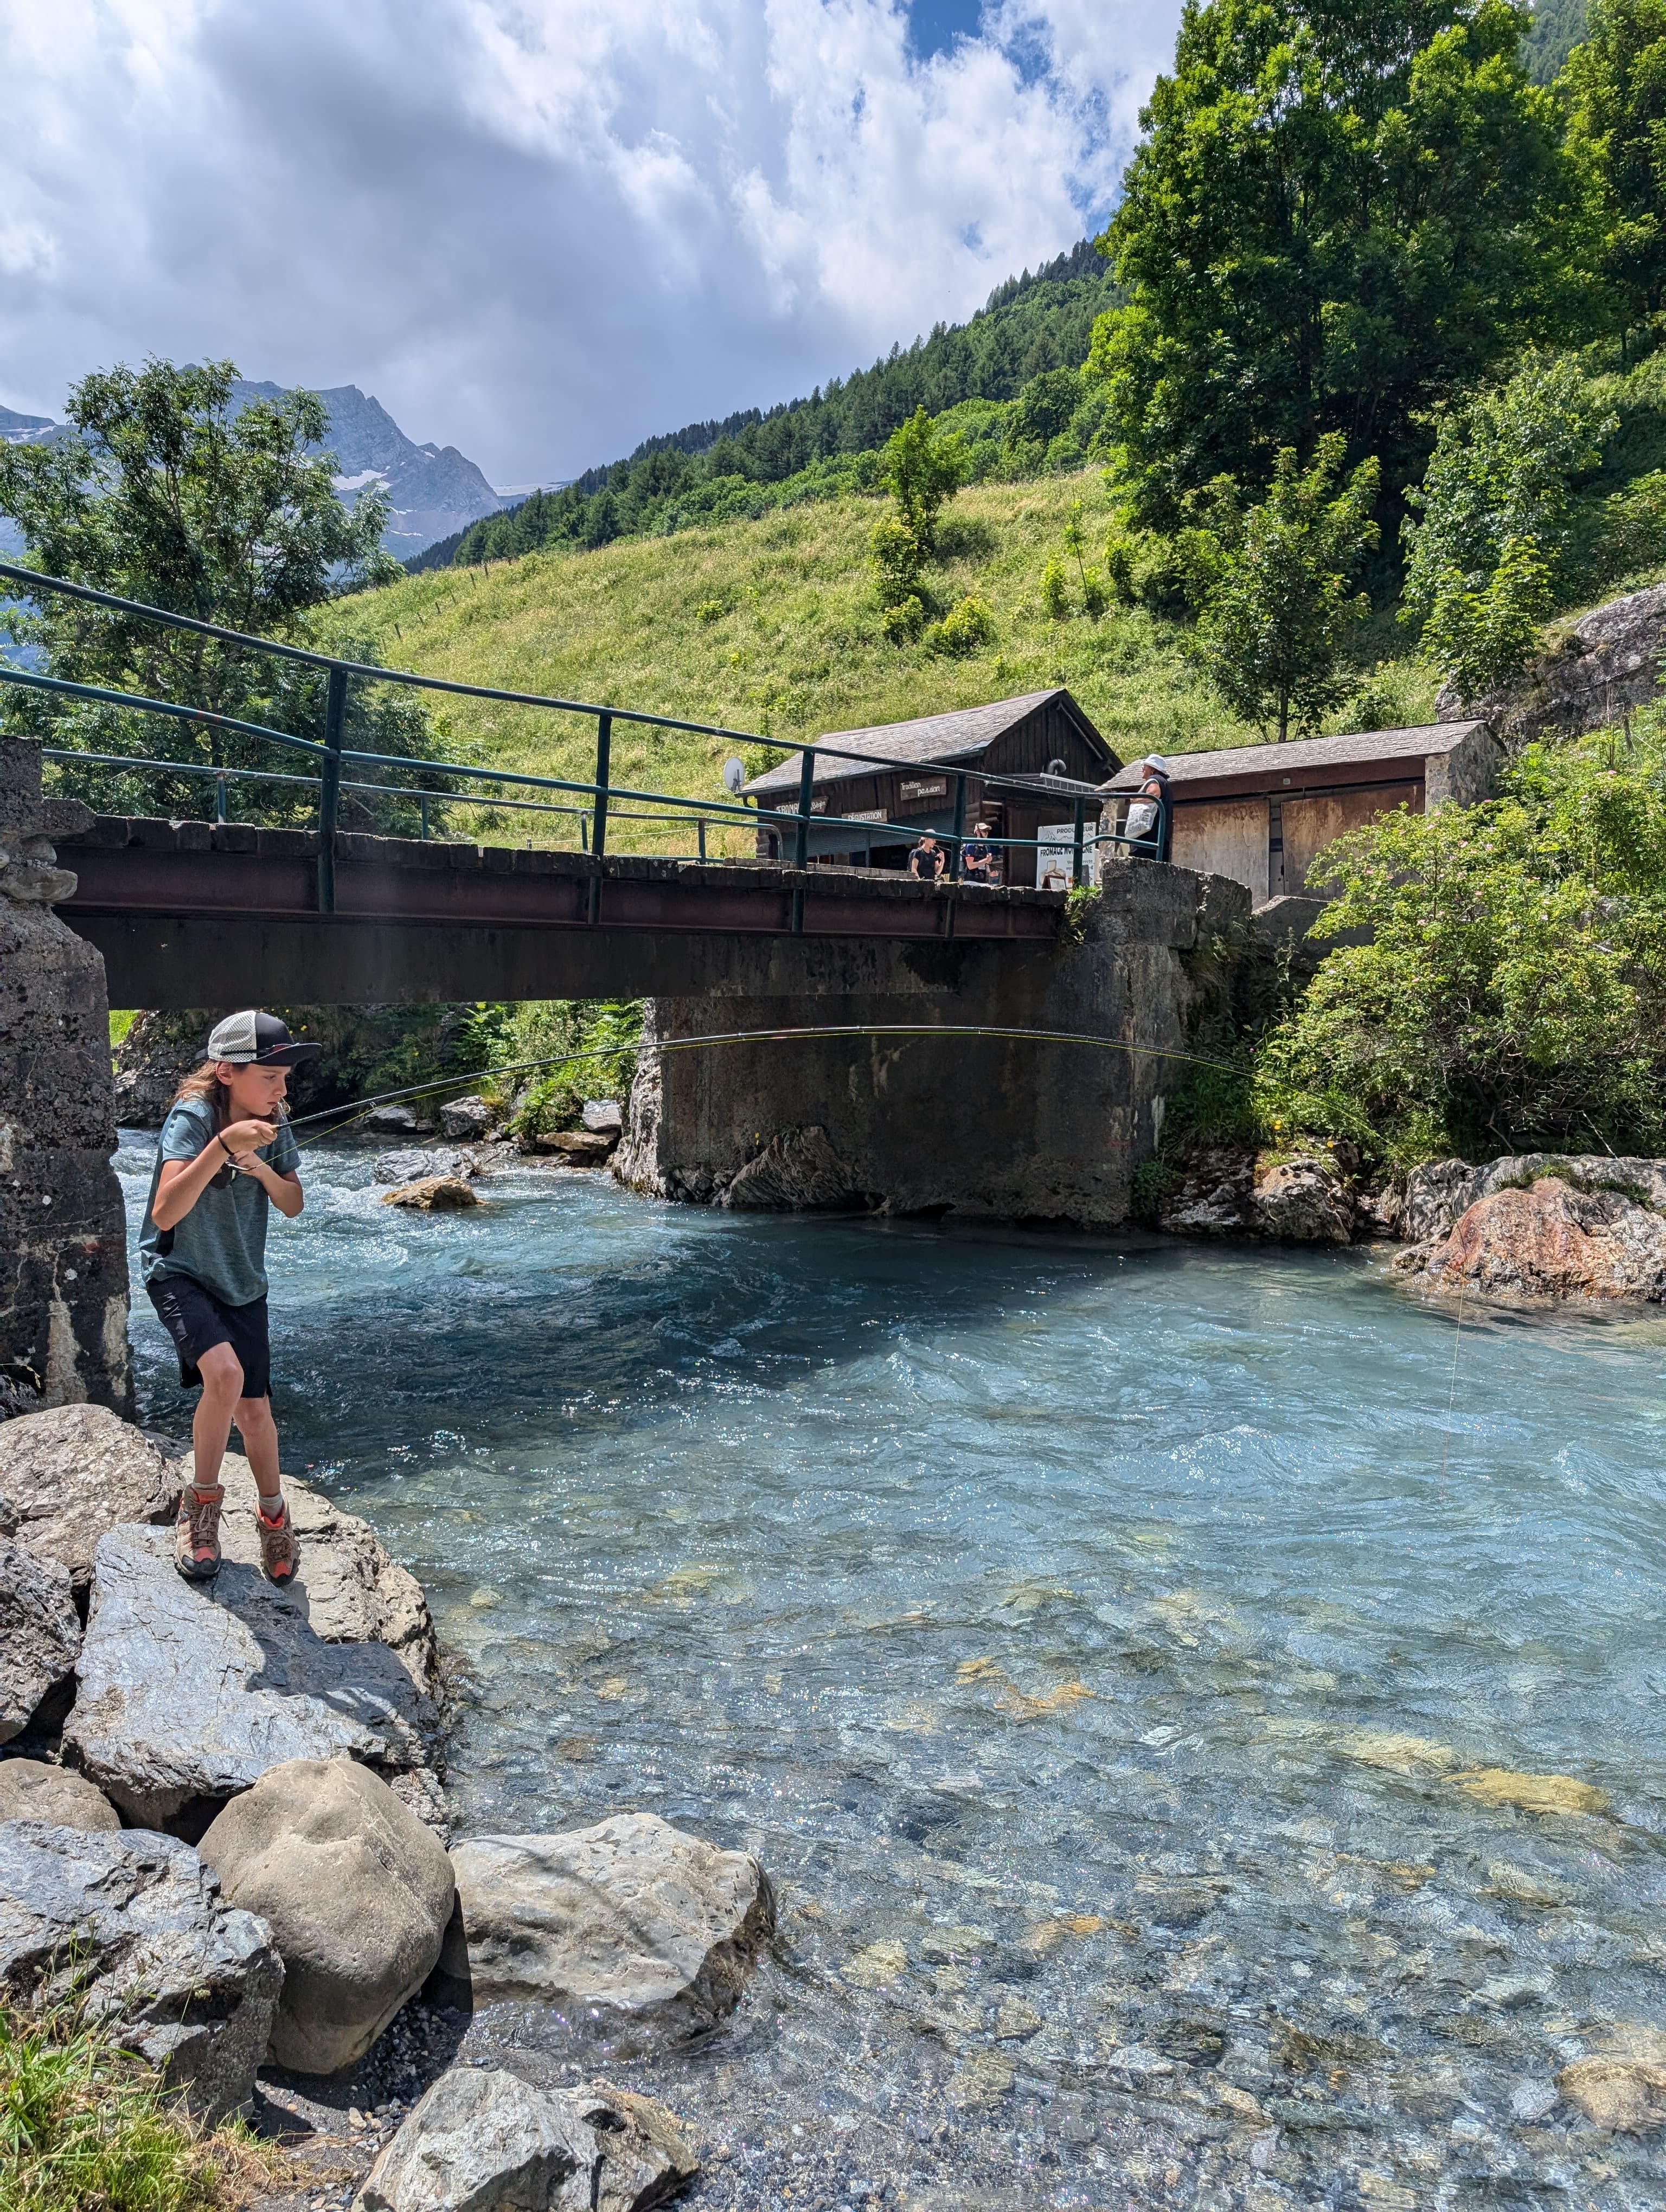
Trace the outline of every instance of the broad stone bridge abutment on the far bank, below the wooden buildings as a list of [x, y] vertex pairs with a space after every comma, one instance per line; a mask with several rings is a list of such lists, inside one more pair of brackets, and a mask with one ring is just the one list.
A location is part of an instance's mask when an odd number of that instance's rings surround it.
[[863, 1208], [1113, 1228], [1186, 1073], [1195, 956], [1248, 922], [1221, 876], [1122, 867], [1080, 929], [1049, 947], [945, 947], [923, 989], [905, 947], [836, 1004], [770, 995], [737, 953], [726, 993], [655, 1000], [650, 1033], [839, 1024], [1082, 1031], [1115, 1046], [1020, 1037], [825, 1037], [646, 1057], [615, 1175], [635, 1190], [735, 1208]]

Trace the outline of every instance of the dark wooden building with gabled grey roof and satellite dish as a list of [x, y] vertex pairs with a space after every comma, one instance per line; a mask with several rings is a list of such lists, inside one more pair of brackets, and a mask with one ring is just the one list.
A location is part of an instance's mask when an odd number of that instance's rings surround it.
[[[1051, 832], [1058, 852], [1071, 836], [1077, 799], [1086, 801], [1089, 832], [1097, 827], [1106, 774], [1122, 765], [1066, 690], [1024, 692], [872, 730], [832, 730], [816, 743], [883, 763], [870, 768], [816, 754], [816, 821], [810, 825], [816, 867], [907, 867], [923, 830], [949, 836], [956, 779], [943, 774], [947, 768], [976, 770], [967, 779], [967, 836], [973, 823], [987, 821], [998, 838], [1049, 838]], [[792, 754], [752, 776], [746, 794], [761, 807], [792, 814], [799, 776]], [[761, 860], [790, 858], [792, 847], [792, 823], [759, 823]], [[1007, 854], [1004, 880], [1040, 883], [1047, 867], [1047, 856], [1020, 847]]]

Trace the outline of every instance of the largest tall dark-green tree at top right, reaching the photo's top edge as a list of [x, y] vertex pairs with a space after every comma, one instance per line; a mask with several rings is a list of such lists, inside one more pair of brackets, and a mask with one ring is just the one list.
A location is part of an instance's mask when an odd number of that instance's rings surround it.
[[1142, 524], [1341, 431], [1398, 493], [1420, 411], [1566, 312], [1553, 97], [1504, 0], [1208, 0], [1144, 111], [1093, 334]]

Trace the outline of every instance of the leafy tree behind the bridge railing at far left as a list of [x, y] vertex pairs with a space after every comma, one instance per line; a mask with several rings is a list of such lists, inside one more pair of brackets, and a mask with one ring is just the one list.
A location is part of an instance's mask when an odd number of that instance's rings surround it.
[[[0, 511], [13, 515], [29, 562], [170, 613], [283, 641], [308, 641], [319, 606], [343, 588], [387, 582], [398, 562], [381, 551], [387, 502], [365, 495], [347, 511], [330, 456], [308, 445], [327, 431], [323, 400], [288, 392], [232, 411], [230, 363], [179, 369], [108, 369], [71, 392], [73, 436], [55, 445], [0, 445]], [[173, 699], [316, 739], [323, 672], [277, 661], [142, 617], [62, 595], [33, 611], [13, 606], [7, 633], [38, 648], [46, 672], [73, 684]], [[376, 659], [367, 637], [341, 650]], [[308, 774], [310, 763], [259, 739], [40, 692], [7, 690], [4, 728], [84, 752], [148, 754], [197, 768], [241, 765]], [[374, 752], [434, 752], [427, 712], [407, 690], [347, 695], [347, 743]], [[409, 781], [403, 772], [376, 776]], [[208, 781], [133, 770], [75, 772], [77, 794], [108, 812], [208, 812]], [[235, 812], [268, 823], [310, 821], [314, 792], [237, 783]], [[343, 794], [343, 825], [416, 830], [412, 801]]]

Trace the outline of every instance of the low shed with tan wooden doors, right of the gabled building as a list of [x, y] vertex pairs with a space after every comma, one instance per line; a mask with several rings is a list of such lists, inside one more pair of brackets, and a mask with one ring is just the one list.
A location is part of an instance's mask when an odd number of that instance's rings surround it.
[[[1423, 730], [1310, 737], [1232, 752], [1168, 754], [1170, 858], [1230, 876], [1266, 905], [1308, 887], [1308, 872], [1343, 830], [1394, 807], [1476, 805], [1489, 799], [1498, 748], [1480, 721]], [[1139, 785], [1139, 761], [1106, 785], [1106, 830], [1120, 830]], [[1111, 847], [1106, 847], [1108, 852]]]

